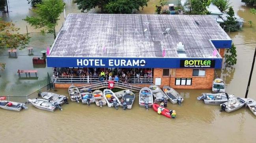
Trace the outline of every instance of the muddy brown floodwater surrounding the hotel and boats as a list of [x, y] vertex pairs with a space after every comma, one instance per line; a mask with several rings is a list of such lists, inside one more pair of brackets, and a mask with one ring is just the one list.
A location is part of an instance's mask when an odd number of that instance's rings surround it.
[[[76, 5], [71, 0], [66, 2], [67, 13], [79, 13]], [[245, 19], [243, 29], [239, 32], [230, 33], [235, 44], [256, 42], [256, 15], [249, 13], [240, 0], [230, 0], [234, 11]], [[139, 13], [153, 14], [157, 0], [151, 0], [148, 7]], [[173, 1], [172, 3], [175, 3]], [[176, 2], [177, 4], [178, 2]], [[22, 19], [26, 15], [33, 15], [30, 5], [26, 0], [9, 0], [9, 14], [1, 14], [4, 20], [12, 20], [21, 33], [26, 32], [26, 22]], [[95, 11], [90, 11], [95, 12]], [[60, 16], [59, 26], [64, 20]], [[255, 25], [247, 24], [252, 20]], [[38, 32], [28, 27], [29, 32]], [[36, 34], [36, 33], [33, 33]], [[39, 35], [39, 34], [38, 34]], [[37, 35], [37, 36], [38, 36]], [[49, 36], [33, 36], [31, 45], [36, 45], [37, 52], [50, 45], [52, 40]], [[39, 42], [37, 42], [37, 40]], [[237, 64], [233, 68], [222, 67], [221, 77], [226, 81], [226, 90], [229, 94], [244, 97], [252, 63], [252, 56], [256, 44], [237, 45]], [[38, 47], [38, 48], [37, 48]], [[41, 49], [40, 49], [41, 48]], [[21, 54], [26, 50], [19, 51]], [[0, 54], [6, 54], [1, 52]], [[17, 67], [31, 67], [33, 56], [18, 56], [7, 58], [0, 56], [0, 61], [6, 61], [7, 67], [1, 72], [0, 95], [6, 94], [30, 94], [45, 82], [45, 72], [50, 68], [40, 68], [39, 79], [20, 80], [15, 75]], [[29, 61], [24, 63], [24, 61]], [[8, 65], [9, 64], [9, 65]], [[22, 85], [24, 87], [22, 88]], [[247, 108], [239, 109], [232, 113], [219, 112], [219, 105], [204, 105], [196, 100], [201, 92], [210, 90], [178, 90], [185, 99], [182, 106], [168, 103], [168, 109], [176, 110], [177, 118], [168, 119], [157, 115], [152, 109], [146, 111], [138, 106], [138, 95], [131, 110], [115, 110], [107, 106], [100, 108], [95, 105], [90, 107], [82, 103], [69, 103], [63, 105], [63, 111], [48, 112], [36, 109], [28, 104], [28, 110], [12, 112], [0, 110], [0, 137], [1, 142], [196, 142], [196, 143], [256, 143], [256, 117]], [[57, 93], [68, 95], [67, 89], [57, 89]], [[252, 75], [248, 97], [256, 100], [256, 68]]]

